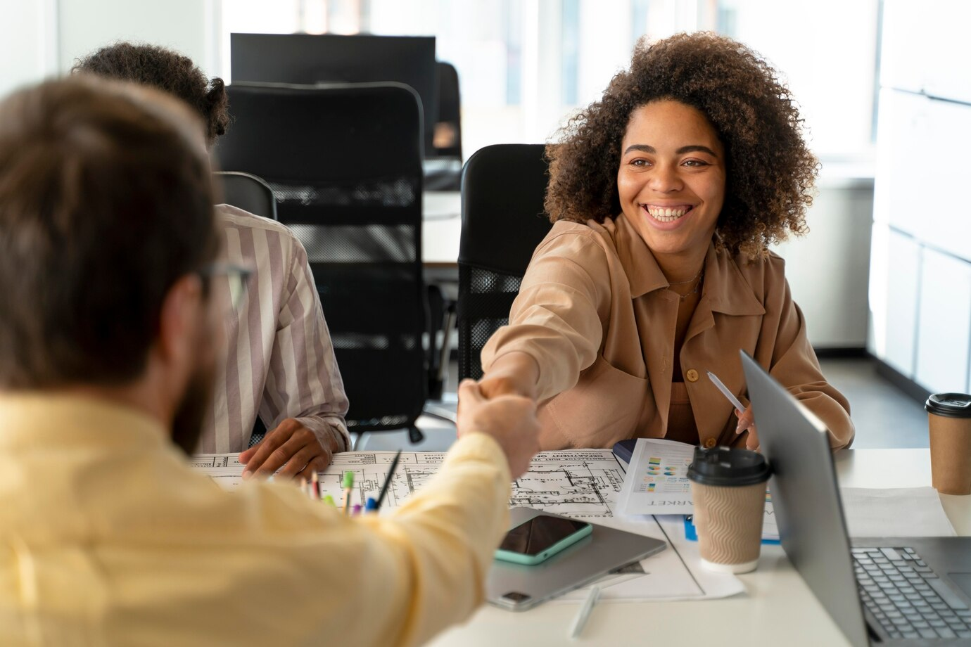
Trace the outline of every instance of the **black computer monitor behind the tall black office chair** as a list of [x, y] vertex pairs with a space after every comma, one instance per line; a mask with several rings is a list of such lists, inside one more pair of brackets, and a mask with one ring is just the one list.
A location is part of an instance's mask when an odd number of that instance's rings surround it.
[[425, 155], [438, 120], [434, 36], [231, 34], [232, 81], [315, 84], [399, 81], [419, 94]]

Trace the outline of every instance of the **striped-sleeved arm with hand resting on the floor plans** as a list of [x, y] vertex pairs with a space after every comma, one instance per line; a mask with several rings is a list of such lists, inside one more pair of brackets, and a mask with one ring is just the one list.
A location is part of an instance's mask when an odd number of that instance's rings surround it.
[[244, 475], [308, 477], [335, 452], [351, 448], [344, 416], [348, 398], [323, 318], [307, 252], [295, 239], [286, 294], [273, 341], [260, 417], [276, 423], [240, 454]]

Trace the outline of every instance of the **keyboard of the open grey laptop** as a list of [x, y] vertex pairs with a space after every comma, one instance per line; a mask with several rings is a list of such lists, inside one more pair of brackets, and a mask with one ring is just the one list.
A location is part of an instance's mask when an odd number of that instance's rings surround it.
[[971, 638], [971, 609], [913, 548], [854, 548], [864, 606], [891, 638]]

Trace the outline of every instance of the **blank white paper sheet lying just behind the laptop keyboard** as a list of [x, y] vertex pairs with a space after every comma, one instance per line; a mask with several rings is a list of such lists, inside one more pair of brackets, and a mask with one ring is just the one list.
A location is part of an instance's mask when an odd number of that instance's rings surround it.
[[840, 495], [852, 537], [956, 535], [934, 488], [841, 488]]

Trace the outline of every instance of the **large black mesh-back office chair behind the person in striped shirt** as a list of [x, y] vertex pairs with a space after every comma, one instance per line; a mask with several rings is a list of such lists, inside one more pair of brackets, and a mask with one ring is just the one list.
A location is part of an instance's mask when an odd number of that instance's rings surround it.
[[[234, 83], [222, 168], [265, 178], [307, 248], [354, 433], [408, 429], [427, 387], [421, 113], [401, 83]], [[434, 352], [429, 348], [428, 353]]]

